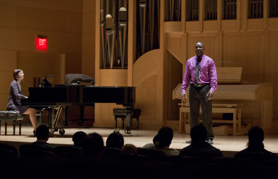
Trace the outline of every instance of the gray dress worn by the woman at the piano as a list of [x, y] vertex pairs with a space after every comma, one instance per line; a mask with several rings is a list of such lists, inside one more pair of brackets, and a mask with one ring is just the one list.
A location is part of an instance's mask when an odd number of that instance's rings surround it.
[[19, 114], [25, 113], [28, 107], [21, 106], [20, 100], [25, 99], [26, 96], [22, 94], [22, 90], [19, 87], [17, 81], [12, 81], [10, 85], [10, 96], [8, 98], [7, 110], [16, 111]]

